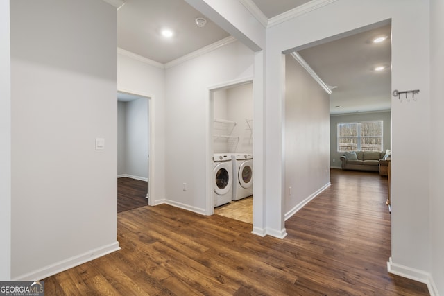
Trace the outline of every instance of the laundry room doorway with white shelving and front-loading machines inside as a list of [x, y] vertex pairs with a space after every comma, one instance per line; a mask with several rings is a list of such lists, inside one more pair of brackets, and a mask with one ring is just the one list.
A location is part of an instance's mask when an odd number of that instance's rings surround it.
[[[232, 188], [216, 196], [214, 214], [253, 224], [253, 82], [213, 89], [210, 97], [210, 154], [226, 155], [232, 168]], [[215, 194], [212, 188], [212, 198]]]

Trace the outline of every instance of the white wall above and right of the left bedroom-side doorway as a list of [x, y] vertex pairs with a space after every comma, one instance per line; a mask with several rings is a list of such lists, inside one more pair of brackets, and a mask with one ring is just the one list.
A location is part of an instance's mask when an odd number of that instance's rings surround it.
[[151, 196], [150, 204], [165, 198], [165, 109], [164, 69], [161, 65], [137, 55], [119, 51], [117, 55], [117, 88], [151, 100]]

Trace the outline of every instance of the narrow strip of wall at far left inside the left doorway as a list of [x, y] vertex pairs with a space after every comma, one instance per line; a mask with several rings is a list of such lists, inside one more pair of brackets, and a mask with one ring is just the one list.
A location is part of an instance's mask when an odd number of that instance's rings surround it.
[[126, 102], [117, 102], [117, 175], [126, 175]]

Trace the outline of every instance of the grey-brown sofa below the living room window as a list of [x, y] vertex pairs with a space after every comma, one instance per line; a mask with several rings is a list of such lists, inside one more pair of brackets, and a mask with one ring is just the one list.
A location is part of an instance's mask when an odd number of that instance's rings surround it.
[[379, 172], [379, 160], [386, 158], [384, 151], [346, 151], [341, 156], [343, 170]]

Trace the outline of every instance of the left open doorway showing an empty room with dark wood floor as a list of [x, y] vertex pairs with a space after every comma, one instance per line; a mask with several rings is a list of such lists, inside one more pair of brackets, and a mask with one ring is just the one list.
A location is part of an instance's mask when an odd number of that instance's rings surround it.
[[150, 98], [117, 93], [118, 212], [143, 207], [150, 196]]

